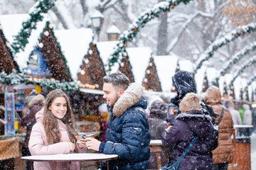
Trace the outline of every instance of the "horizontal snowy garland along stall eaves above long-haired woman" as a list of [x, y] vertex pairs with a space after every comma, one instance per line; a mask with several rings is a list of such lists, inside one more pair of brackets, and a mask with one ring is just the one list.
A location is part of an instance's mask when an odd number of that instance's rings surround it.
[[79, 91], [79, 86], [76, 82], [67, 81], [52, 81], [50, 79], [31, 79], [28, 75], [24, 73], [16, 73], [13, 70], [11, 74], [6, 74], [6, 72], [0, 73], [0, 83], [15, 86], [18, 84], [37, 84], [38, 86], [45, 86], [48, 89], [62, 89], [66, 92]]

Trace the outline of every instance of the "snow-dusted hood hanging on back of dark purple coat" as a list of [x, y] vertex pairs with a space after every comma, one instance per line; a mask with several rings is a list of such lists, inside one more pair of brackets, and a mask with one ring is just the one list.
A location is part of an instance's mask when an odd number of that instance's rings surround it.
[[202, 111], [193, 110], [187, 113], [181, 113], [176, 117], [176, 120], [186, 121], [188, 127], [198, 136], [206, 139], [213, 128], [210, 115], [205, 115]]

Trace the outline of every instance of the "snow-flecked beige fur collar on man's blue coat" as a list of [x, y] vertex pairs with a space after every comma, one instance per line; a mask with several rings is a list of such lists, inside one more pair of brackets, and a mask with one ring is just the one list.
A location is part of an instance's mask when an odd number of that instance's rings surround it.
[[143, 88], [142, 85], [137, 83], [129, 84], [124, 94], [120, 96], [113, 107], [113, 114], [117, 117], [122, 115], [128, 108], [134, 106], [142, 98]]

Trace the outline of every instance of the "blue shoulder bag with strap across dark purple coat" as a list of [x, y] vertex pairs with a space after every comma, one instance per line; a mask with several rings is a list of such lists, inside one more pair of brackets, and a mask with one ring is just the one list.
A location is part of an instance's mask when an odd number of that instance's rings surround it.
[[183, 160], [183, 158], [186, 156], [186, 154], [188, 154], [191, 147], [193, 147], [193, 145], [196, 143], [197, 138], [198, 138], [197, 136], [195, 136], [193, 138], [192, 142], [188, 145], [186, 150], [181, 154], [181, 157], [179, 157], [176, 162], [173, 162], [171, 164], [169, 162], [167, 162], [166, 165], [161, 167], [159, 170], [177, 170], [178, 166], [179, 166], [179, 164], [181, 164], [181, 161]]

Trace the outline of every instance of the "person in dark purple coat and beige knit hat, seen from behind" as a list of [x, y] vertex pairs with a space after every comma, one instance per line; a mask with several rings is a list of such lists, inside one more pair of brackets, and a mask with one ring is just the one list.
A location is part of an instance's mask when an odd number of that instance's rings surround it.
[[201, 111], [200, 97], [188, 93], [179, 107], [174, 126], [167, 129], [161, 137], [164, 147], [170, 148], [169, 162], [173, 163], [181, 157], [195, 136], [196, 143], [182, 160], [179, 170], [205, 170], [213, 168], [212, 150], [218, 146], [212, 118]]

